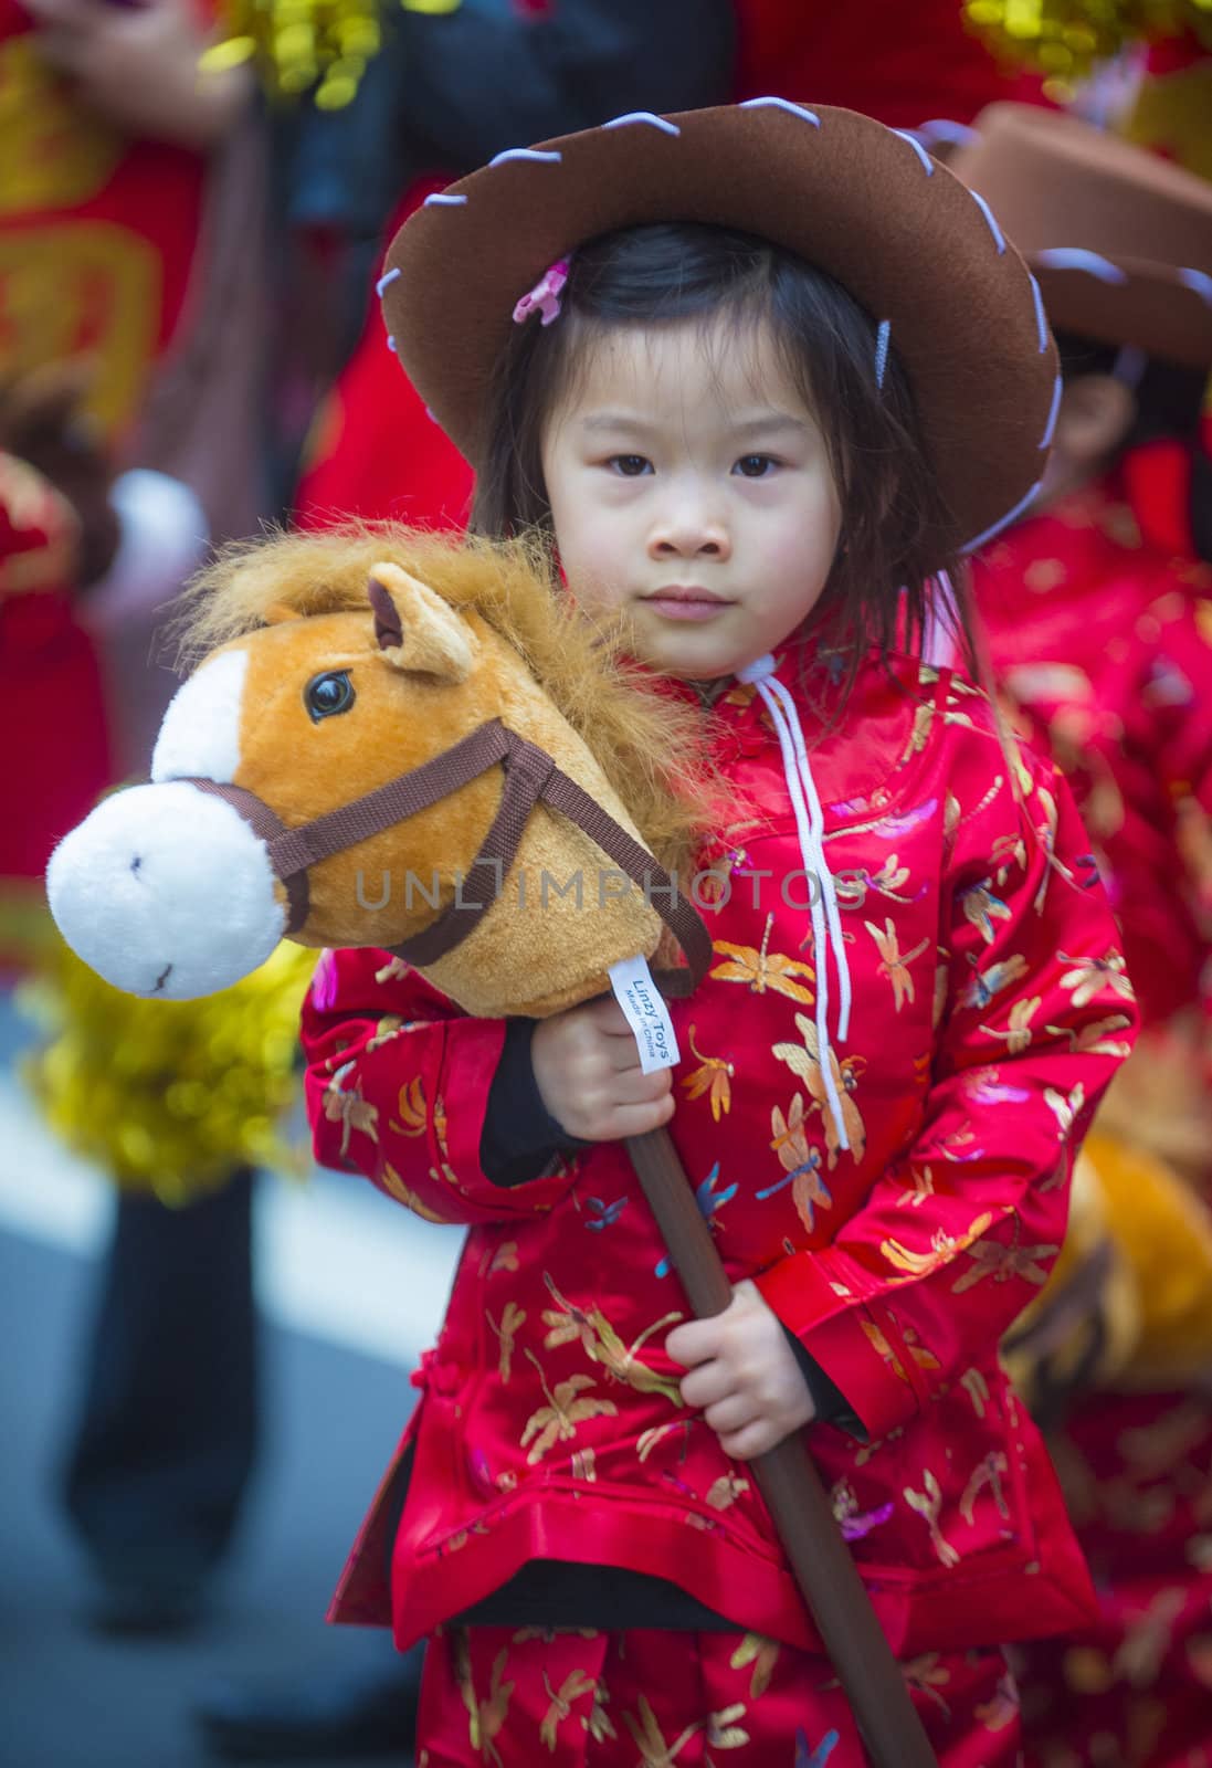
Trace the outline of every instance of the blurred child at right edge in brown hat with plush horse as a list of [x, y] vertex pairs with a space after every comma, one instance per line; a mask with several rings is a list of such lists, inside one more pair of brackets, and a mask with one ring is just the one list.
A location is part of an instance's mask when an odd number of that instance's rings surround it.
[[1023, 1648], [1028, 1761], [1189, 1768], [1212, 1761], [1212, 184], [1018, 106], [952, 170], [1039, 276], [1064, 375], [1042, 488], [975, 562], [975, 605], [1074, 787], [1143, 1020], [1062, 1280], [1007, 1342], [1101, 1600], [1095, 1628]]

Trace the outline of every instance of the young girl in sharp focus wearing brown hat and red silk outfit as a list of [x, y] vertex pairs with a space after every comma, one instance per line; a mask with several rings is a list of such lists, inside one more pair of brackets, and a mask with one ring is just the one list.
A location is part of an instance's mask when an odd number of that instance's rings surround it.
[[[1134, 1010], [1064, 783], [915, 644], [1046, 458], [1032, 281], [915, 143], [765, 101], [502, 156], [383, 288], [477, 527], [553, 536], [749, 808], [673, 1077], [610, 1001], [470, 1020], [325, 965], [318, 1158], [470, 1227], [334, 1614], [429, 1635], [428, 1768], [857, 1768], [747, 1471], [811, 1425], [940, 1759], [1014, 1763], [1000, 1646], [1092, 1593], [996, 1342]], [[620, 1147], [663, 1123], [735, 1285], [707, 1322]]]

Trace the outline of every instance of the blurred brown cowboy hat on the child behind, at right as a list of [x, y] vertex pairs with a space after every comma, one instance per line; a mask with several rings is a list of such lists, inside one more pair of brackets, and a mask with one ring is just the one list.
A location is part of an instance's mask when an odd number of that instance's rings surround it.
[[991, 104], [947, 161], [1026, 256], [1057, 331], [1212, 366], [1212, 184], [1032, 104]]

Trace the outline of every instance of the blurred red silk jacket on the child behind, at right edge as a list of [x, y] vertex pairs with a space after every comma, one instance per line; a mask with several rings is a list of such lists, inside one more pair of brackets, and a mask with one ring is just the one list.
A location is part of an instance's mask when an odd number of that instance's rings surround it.
[[996, 541], [973, 591], [1081, 806], [1143, 1022], [1212, 1017], [1212, 568], [1150, 548], [1111, 477]]

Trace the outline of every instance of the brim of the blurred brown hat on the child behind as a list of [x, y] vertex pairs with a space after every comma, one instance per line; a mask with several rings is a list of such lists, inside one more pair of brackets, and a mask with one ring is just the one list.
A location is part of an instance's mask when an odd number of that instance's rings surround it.
[[[1051, 325], [1108, 345], [1134, 345], [1184, 368], [1212, 370], [1212, 299], [1168, 263], [1104, 258], [1104, 271], [1028, 258]], [[1115, 276], [1117, 279], [1111, 279]]]

